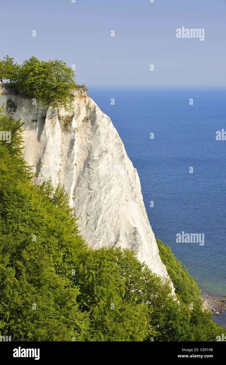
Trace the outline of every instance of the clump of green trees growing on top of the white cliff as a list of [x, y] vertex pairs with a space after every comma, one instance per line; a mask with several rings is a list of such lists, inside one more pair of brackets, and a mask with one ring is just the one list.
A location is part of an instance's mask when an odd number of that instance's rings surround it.
[[25, 60], [23, 64], [14, 63], [8, 55], [0, 60], [0, 79], [24, 95], [42, 100], [55, 107], [69, 108], [71, 90], [76, 88], [72, 68], [65, 62], [39, 61], [36, 57]]

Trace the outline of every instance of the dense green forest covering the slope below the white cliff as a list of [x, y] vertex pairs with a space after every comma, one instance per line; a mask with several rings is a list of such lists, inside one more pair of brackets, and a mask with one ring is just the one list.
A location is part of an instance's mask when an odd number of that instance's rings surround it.
[[[215, 341], [188, 274], [158, 242], [181, 299], [133, 251], [93, 250], [63, 187], [40, 187], [22, 157], [21, 121], [0, 110], [0, 335], [12, 341]], [[187, 308], [192, 302], [193, 309]]]

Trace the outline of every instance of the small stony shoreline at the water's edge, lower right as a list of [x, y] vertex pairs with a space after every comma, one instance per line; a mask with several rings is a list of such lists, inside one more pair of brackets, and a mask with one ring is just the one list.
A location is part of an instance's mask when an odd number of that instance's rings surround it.
[[210, 310], [212, 316], [226, 314], [226, 296], [218, 297], [212, 293], [206, 293], [202, 291], [200, 297], [204, 300], [204, 308]]

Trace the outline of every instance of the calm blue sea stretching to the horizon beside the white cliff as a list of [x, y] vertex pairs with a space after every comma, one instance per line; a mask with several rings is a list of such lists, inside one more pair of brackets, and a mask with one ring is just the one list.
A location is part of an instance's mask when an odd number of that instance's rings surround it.
[[[200, 288], [225, 296], [226, 141], [216, 132], [226, 131], [226, 88], [88, 86], [88, 95], [111, 118], [137, 169], [156, 238]], [[204, 234], [204, 245], [177, 243], [182, 231]]]

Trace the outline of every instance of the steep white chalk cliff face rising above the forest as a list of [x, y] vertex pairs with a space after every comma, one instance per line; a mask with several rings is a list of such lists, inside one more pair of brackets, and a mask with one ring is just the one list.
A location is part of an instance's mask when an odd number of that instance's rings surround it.
[[[94, 249], [132, 248], [156, 274], [169, 278], [149, 224], [137, 170], [110, 118], [86, 94], [73, 92], [71, 111], [53, 108], [0, 87], [0, 105], [24, 122], [24, 158], [64, 184], [82, 236]], [[34, 105], [33, 105], [34, 104]], [[173, 287], [173, 284], [172, 284]]]

